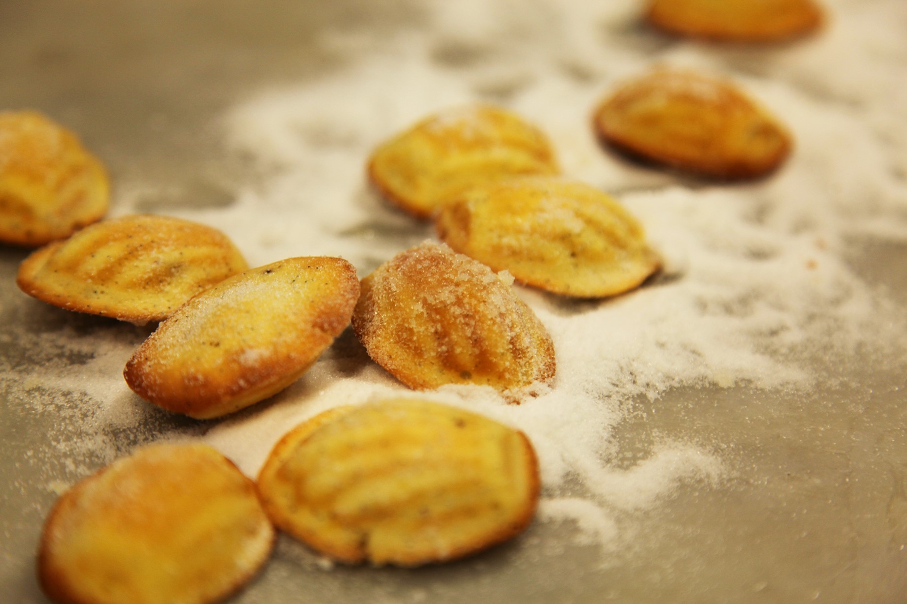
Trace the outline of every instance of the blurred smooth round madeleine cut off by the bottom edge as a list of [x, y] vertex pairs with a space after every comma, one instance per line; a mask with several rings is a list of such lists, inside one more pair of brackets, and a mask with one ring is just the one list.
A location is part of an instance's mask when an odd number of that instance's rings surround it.
[[274, 544], [255, 483], [202, 444], [141, 448], [76, 484], [44, 524], [38, 580], [59, 604], [205, 604]]

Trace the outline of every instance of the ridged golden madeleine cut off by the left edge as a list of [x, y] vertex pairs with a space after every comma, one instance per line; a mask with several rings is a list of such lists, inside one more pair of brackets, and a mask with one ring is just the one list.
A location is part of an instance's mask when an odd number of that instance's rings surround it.
[[64, 239], [107, 212], [107, 171], [78, 138], [34, 111], [0, 112], [0, 242]]

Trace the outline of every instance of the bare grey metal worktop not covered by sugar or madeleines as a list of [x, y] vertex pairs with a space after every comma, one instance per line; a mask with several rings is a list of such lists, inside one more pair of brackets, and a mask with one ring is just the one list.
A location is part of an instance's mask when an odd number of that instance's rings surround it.
[[[219, 112], [250, 89], [303, 81], [342, 62], [318, 32], [380, 36], [418, 26], [418, 5], [5, 2], [0, 107], [54, 115], [102, 156], [114, 182], [141, 177], [217, 207], [243, 174], [241, 161], [219, 149]], [[149, 200], [147, 209], [174, 202]], [[25, 255], [0, 247], [0, 368], [26, 368], [32, 379], [0, 382], [0, 599], [32, 603], [45, 601], [34, 552], [57, 496], [47, 488], [54, 477], [72, 482], [156, 434], [204, 427], [150, 409], [130, 424], [105, 424], [80, 410], [85, 395], [44, 389], [44, 371], [77, 371], [91, 351], [35, 342], [112, 343], [125, 362], [148, 330], [25, 297], [14, 285]], [[849, 261], [907, 303], [907, 249], [863, 242]], [[808, 394], [702, 388], [672, 391], [658, 409], [637, 402], [639, 413], [619, 434], [629, 461], [669, 434], [720, 449], [736, 475], [647, 512], [632, 545], [603, 566], [595, 546], [572, 541], [569, 527], [541, 522], [479, 557], [421, 570], [328, 571], [281, 539], [267, 569], [231, 601], [905, 601], [902, 361], [872, 350], [814, 358], [834, 380]], [[58, 455], [58, 441], [86, 437], [100, 439], [97, 453], [77, 464]]]

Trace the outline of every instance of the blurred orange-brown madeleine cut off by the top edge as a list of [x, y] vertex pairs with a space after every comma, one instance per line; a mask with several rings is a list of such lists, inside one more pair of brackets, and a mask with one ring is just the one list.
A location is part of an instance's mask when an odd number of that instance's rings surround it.
[[652, 0], [649, 23], [671, 34], [722, 42], [777, 42], [823, 22], [813, 0]]

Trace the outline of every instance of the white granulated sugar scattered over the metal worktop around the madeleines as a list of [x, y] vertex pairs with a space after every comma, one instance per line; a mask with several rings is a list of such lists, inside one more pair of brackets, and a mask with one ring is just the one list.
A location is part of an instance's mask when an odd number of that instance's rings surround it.
[[[491, 388], [467, 386], [427, 395], [530, 436], [542, 521], [571, 521], [580, 540], [607, 549], [621, 538], [619, 518], [722, 480], [727, 462], [695, 443], [666, 441], [630, 467], [615, 463], [615, 433], [639, 397], [690, 385], [805, 389], [824, 378], [810, 358], [867, 343], [902, 356], [895, 338], [903, 329], [891, 328], [900, 311], [844, 260], [853, 238], [907, 241], [902, 2], [826, 2], [824, 34], [761, 51], [659, 42], [634, 26], [630, 0], [424, 4], [424, 30], [361, 43], [368, 52], [337, 38], [355, 51], [344, 67], [239, 103], [224, 117], [225, 136], [258, 161], [262, 178], [227, 209], [176, 213], [223, 230], [253, 266], [337, 255], [366, 274], [430, 234], [367, 189], [364, 165], [376, 144], [471, 101], [498, 102], [547, 132], [564, 171], [624, 203], [666, 268], [639, 291], [601, 302], [518, 288], [557, 351], [556, 383], [539, 397], [507, 405]], [[794, 132], [791, 160], [767, 180], [730, 186], [602, 151], [592, 107], [656, 63], [735, 80]], [[72, 336], [53, 337], [71, 346]], [[41, 381], [87, 393], [122, 422], [120, 412], [134, 409], [120, 377], [128, 354], [85, 345], [96, 348], [78, 375]], [[413, 394], [341, 338], [296, 385], [210, 424], [203, 439], [254, 476], [297, 422], [385, 395]], [[575, 480], [579, 495], [568, 488]]]

